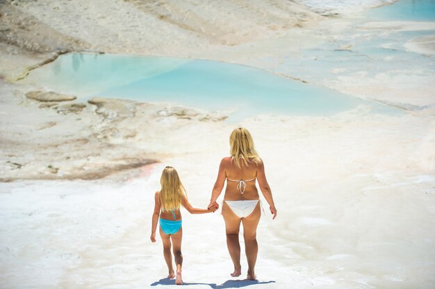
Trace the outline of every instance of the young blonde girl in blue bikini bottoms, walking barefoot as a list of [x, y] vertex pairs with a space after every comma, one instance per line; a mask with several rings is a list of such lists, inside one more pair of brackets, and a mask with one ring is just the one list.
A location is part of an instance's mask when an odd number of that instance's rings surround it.
[[[174, 278], [174, 268], [172, 267], [171, 242], [174, 251], [175, 264], [177, 266], [177, 285], [183, 284], [181, 279], [181, 265], [183, 265], [183, 255], [181, 254], [181, 238], [183, 229], [181, 228], [180, 206], [183, 206], [191, 214], [212, 213], [217, 208], [211, 206], [208, 209], [193, 208], [186, 197], [186, 190], [180, 181], [177, 171], [173, 167], [165, 167], [160, 179], [161, 190], [156, 192], [154, 197], [154, 213], [151, 226], [151, 242], [156, 242], [157, 220], [160, 221], [160, 236], [163, 242], [163, 256], [169, 270], [167, 278]], [[158, 217], [160, 215], [160, 218]]]

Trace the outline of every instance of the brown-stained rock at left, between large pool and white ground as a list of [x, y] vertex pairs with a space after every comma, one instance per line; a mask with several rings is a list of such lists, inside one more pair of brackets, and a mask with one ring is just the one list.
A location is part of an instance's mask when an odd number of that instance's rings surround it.
[[[1, 182], [140, 174], [142, 167], [180, 150], [174, 129], [190, 131], [224, 119], [168, 104], [101, 97], [81, 102], [56, 92], [0, 84], [0, 142], [5, 148], [0, 153]], [[156, 147], [160, 139], [173, 145]]]

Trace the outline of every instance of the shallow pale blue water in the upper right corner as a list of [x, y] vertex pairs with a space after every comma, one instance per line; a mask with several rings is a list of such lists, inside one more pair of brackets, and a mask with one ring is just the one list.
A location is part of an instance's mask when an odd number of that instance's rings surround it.
[[282, 65], [277, 65], [277, 72], [298, 75], [318, 85], [358, 75], [376, 79], [382, 74], [434, 74], [435, 58], [407, 51], [404, 44], [435, 35], [435, 31], [427, 31], [423, 25], [422, 30], [416, 31], [366, 31], [359, 28], [367, 22], [384, 21], [433, 22], [435, 0], [401, 0], [393, 5], [368, 9], [359, 19], [353, 20], [349, 28], [340, 31], [334, 40], [304, 49], [302, 57], [287, 56], [280, 60]]

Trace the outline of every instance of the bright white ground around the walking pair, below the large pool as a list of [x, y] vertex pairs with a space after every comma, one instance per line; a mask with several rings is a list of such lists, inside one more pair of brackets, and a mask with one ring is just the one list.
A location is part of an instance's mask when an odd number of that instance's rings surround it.
[[[256, 267], [262, 284], [231, 283], [243, 278], [229, 276], [219, 213], [186, 211], [184, 281], [191, 288], [431, 288], [434, 127], [430, 133], [427, 122], [414, 117], [361, 119], [352, 114], [317, 120], [274, 117], [243, 124], [265, 160], [279, 211], [272, 221], [263, 200]], [[202, 142], [202, 135], [213, 137], [204, 126], [190, 138], [187, 153], [123, 181], [1, 184], [3, 286], [172, 284], [165, 280], [161, 241], [149, 241], [161, 170], [176, 167], [192, 204], [205, 207], [232, 127], [215, 131], [211, 147]], [[167, 140], [168, 150], [177, 151], [181, 138]], [[184, 141], [178, 143], [186, 149]], [[242, 260], [246, 270], [245, 256]]]

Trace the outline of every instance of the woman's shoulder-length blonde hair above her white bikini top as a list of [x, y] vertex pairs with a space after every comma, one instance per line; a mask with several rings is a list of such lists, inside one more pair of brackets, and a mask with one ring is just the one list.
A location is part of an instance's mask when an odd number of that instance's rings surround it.
[[234, 129], [229, 136], [229, 146], [229, 153], [237, 167], [242, 167], [240, 159], [243, 160], [245, 165], [249, 165], [248, 162], [250, 161], [257, 165], [261, 163], [261, 158], [254, 148], [254, 140], [247, 129], [243, 127]]

